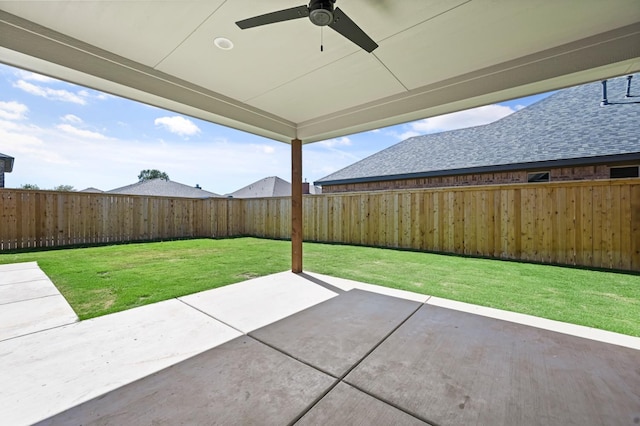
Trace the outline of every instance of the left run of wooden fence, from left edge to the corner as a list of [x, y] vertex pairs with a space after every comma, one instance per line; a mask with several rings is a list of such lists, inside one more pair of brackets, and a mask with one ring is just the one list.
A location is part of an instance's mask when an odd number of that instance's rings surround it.
[[0, 190], [0, 250], [229, 237], [240, 200]]

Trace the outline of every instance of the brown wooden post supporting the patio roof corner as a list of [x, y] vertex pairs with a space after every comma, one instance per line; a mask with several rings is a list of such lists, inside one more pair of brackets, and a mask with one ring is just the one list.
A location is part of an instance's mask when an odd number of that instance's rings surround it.
[[291, 271], [302, 272], [302, 141], [291, 141]]

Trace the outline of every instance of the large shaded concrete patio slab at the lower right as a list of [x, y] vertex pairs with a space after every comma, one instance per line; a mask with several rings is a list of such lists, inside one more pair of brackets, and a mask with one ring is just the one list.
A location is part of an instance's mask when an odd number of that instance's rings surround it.
[[424, 305], [345, 381], [440, 425], [633, 425], [640, 352]]

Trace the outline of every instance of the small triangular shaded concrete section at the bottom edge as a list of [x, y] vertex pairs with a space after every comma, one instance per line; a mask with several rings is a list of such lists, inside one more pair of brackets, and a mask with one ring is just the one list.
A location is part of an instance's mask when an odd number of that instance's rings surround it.
[[427, 424], [343, 382], [296, 423], [297, 426]]

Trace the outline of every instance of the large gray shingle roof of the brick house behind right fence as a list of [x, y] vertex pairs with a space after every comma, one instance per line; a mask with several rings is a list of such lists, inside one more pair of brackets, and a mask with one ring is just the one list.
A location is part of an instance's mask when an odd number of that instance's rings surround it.
[[[640, 74], [624, 99], [626, 77], [561, 90], [483, 126], [416, 136], [314, 183], [339, 184], [400, 177], [437, 176], [538, 167], [539, 163], [588, 163], [594, 157], [640, 159]], [[409, 175], [409, 176], [407, 176]]]

